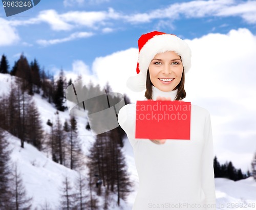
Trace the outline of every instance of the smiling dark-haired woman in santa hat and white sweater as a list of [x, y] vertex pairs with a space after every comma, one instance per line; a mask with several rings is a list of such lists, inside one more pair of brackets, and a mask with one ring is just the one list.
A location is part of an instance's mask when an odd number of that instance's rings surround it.
[[[146, 99], [182, 100], [191, 51], [173, 34], [150, 32], [139, 40], [137, 75], [127, 85], [146, 89]], [[118, 122], [133, 147], [139, 190], [133, 210], [216, 209], [210, 115], [191, 105], [190, 139], [135, 138], [136, 105], [125, 105]]]

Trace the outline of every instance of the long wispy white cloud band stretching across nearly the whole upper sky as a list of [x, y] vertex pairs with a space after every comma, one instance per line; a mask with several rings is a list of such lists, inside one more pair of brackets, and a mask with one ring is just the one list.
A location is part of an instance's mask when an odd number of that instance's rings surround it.
[[[93, 0], [90, 0], [93, 1]], [[89, 4], [90, 4], [89, 1]], [[100, 4], [107, 0], [93, 1], [94, 4]], [[64, 1], [64, 4], [86, 4], [84, 0]], [[46, 22], [54, 31], [69, 31], [75, 28], [88, 27], [91, 29], [107, 28], [115, 20], [126, 21], [132, 24], [142, 24], [151, 22], [154, 19], [159, 20], [157, 27], [166, 26], [164, 22], [185, 18], [202, 17], [228, 17], [238, 16], [244, 19], [248, 24], [256, 23], [256, 1], [235, 1], [235, 0], [209, 0], [209, 1], [191, 1], [176, 3], [161, 9], [155, 9], [149, 12], [136, 14], [122, 14], [116, 12], [113, 8], [103, 11], [69, 11], [59, 14], [56, 10], [43, 10], [37, 17], [27, 20], [10, 20], [10, 26], [33, 25]], [[171, 26], [174, 27], [174, 26]], [[104, 30], [103, 30], [104, 32]]]

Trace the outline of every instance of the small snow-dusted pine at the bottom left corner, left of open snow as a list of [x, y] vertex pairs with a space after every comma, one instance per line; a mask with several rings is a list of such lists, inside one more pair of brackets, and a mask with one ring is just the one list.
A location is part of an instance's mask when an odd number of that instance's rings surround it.
[[11, 180], [11, 192], [12, 192], [12, 201], [11, 209], [15, 210], [29, 210], [32, 207], [32, 197], [27, 197], [26, 189], [23, 185], [23, 180], [18, 172], [17, 164], [14, 164], [14, 171], [12, 174]]

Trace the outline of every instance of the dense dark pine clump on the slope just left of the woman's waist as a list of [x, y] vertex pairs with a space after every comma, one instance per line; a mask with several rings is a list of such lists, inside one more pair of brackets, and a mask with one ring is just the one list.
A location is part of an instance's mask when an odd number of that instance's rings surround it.
[[[126, 199], [131, 192], [132, 182], [129, 180], [124, 155], [121, 147], [117, 143], [118, 132], [113, 129], [109, 132], [97, 135], [93, 147], [90, 149], [88, 168], [92, 174], [97, 175], [96, 183], [106, 186], [105, 190], [110, 190], [117, 194], [117, 203], [120, 198]], [[101, 184], [95, 189], [97, 195], [101, 195]]]

